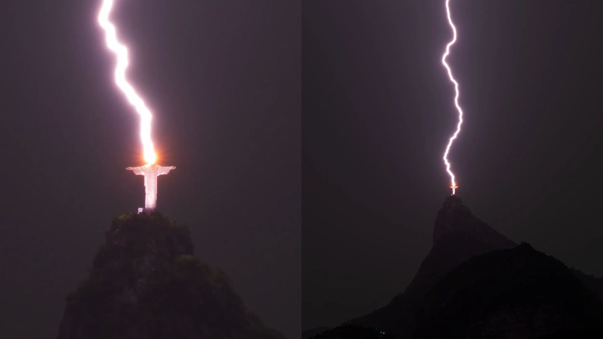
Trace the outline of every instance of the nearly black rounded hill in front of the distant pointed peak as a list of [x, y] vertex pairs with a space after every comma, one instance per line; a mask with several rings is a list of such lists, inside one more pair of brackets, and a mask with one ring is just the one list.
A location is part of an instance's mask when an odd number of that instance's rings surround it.
[[540, 338], [603, 324], [603, 303], [562, 262], [522, 243], [476, 256], [418, 303], [413, 338]]

